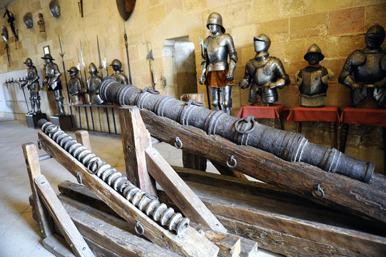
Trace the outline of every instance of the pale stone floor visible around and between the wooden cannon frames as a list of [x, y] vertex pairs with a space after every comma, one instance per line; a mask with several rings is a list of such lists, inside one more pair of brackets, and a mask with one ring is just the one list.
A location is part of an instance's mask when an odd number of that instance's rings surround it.
[[[32, 218], [29, 196], [31, 188], [21, 146], [37, 141], [38, 129], [29, 129], [21, 121], [0, 121], [0, 256], [45, 257], [53, 256], [41, 245], [39, 226]], [[69, 133], [73, 136], [73, 133]], [[96, 155], [118, 171], [123, 171], [123, 153], [119, 136], [90, 133], [91, 147]], [[171, 165], [182, 166], [181, 150], [166, 143], [155, 148]], [[45, 154], [39, 150], [39, 155]], [[216, 172], [208, 163], [208, 171]], [[76, 183], [54, 159], [41, 162], [41, 173], [58, 193], [57, 184], [64, 180]], [[260, 250], [259, 256], [277, 256]]]

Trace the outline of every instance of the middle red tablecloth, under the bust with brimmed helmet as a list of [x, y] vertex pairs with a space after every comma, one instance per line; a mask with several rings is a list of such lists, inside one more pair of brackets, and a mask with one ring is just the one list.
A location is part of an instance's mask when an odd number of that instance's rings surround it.
[[325, 106], [322, 108], [295, 107], [288, 115], [288, 121], [327, 121], [339, 122], [337, 106]]

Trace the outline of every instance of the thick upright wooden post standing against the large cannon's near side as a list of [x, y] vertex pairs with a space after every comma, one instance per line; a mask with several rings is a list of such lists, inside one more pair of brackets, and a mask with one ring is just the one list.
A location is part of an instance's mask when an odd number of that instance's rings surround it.
[[150, 133], [143, 124], [138, 107], [121, 107], [118, 110], [126, 176], [133, 185], [156, 196], [156, 182], [148, 174], [145, 156], [146, 148], [151, 147]]

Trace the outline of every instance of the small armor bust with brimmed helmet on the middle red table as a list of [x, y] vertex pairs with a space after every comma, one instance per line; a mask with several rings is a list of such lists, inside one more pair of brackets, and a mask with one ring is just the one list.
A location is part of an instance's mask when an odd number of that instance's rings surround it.
[[309, 65], [295, 75], [295, 82], [300, 83], [300, 106], [323, 107], [328, 88], [327, 80], [331, 80], [334, 74], [330, 69], [319, 65], [325, 56], [317, 44], [310, 46], [304, 59]]

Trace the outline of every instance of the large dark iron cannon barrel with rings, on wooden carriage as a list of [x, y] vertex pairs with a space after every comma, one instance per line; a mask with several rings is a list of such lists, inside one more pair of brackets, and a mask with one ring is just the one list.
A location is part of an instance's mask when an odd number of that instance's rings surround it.
[[150, 87], [120, 84], [106, 78], [100, 89], [101, 98], [114, 104], [138, 106], [182, 125], [203, 129], [208, 134], [223, 136], [240, 145], [253, 146], [273, 153], [286, 161], [303, 161], [325, 171], [340, 173], [368, 183], [374, 172], [372, 162], [360, 161], [335, 148], [308, 142], [300, 133], [273, 129], [258, 124], [253, 117], [239, 119], [223, 111], [211, 111], [195, 101], [183, 102], [172, 96], [161, 96]]

